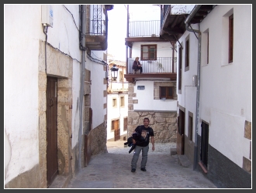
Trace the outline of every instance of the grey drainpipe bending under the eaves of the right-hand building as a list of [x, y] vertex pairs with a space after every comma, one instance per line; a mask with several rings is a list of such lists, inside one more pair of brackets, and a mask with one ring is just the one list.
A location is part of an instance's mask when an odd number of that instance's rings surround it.
[[194, 147], [194, 164], [193, 170], [195, 170], [197, 166], [197, 154], [198, 154], [198, 147], [197, 147], [197, 135], [198, 135], [198, 124], [199, 124], [199, 91], [200, 91], [200, 61], [201, 61], [201, 32], [197, 29], [190, 29], [189, 22], [195, 15], [195, 13], [199, 10], [201, 5], [195, 5], [190, 15], [185, 19], [185, 29], [189, 32], [197, 32], [199, 34], [198, 38], [198, 63], [197, 63], [197, 89], [196, 89], [196, 119], [195, 119], [195, 147]]

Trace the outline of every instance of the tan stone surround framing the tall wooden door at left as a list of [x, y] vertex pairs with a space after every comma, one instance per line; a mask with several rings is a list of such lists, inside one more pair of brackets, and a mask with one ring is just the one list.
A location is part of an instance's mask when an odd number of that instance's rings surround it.
[[45, 42], [39, 42], [39, 170], [40, 186], [47, 188], [47, 75], [57, 77], [57, 148], [58, 174], [71, 174], [71, 122], [73, 60], [47, 46], [47, 74], [45, 73]]

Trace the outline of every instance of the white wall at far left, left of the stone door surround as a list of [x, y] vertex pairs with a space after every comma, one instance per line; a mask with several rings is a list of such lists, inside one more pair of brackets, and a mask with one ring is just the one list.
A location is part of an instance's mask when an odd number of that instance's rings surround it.
[[40, 8], [5, 5], [5, 182], [39, 162], [37, 63], [39, 39], [44, 39]]

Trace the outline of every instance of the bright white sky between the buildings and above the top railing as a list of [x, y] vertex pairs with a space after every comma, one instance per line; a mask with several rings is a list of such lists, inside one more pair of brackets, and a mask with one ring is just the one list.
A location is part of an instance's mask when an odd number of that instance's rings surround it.
[[[160, 20], [158, 5], [130, 4], [129, 13], [130, 21]], [[108, 54], [116, 60], [126, 61], [127, 5], [114, 4], [108, 17]]]

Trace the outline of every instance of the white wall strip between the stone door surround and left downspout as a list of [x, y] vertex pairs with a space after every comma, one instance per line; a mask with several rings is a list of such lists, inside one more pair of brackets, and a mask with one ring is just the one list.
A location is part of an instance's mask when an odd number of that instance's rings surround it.
[[[68, 12], [66, 8], [71, 12]], [[79, 5], [52, 5], [54, 10], [54, 25], [48, 28], [47, 42], [61, 52], [70, 55], [81, 63], [81, 50], [79, 49]], [[73, 20], [73, 17], [74, 20]], [[40, 21], [39, 21], [40, 22]], [[77, 29], [78, 28], [78, 29]], [[72, 78], [72, 107], [78, 106], [80, 94], [80, 63], [73, 61], [73, 78]], [[72, 147], [78, 143], [78, 130], [81, 124], [79, 110], [72, 109]]]

